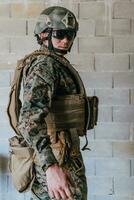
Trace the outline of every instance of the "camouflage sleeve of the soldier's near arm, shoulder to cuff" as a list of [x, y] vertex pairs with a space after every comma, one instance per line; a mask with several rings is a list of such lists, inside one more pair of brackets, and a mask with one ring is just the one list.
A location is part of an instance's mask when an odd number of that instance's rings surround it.
[[44, 62], [36, 64], [24, 82], [24, 100], [18, 125], [25, 140], [37, 152], [43, 169], [57, 163], [44, 120], [51, 107], [54, 87], [52, 67]]

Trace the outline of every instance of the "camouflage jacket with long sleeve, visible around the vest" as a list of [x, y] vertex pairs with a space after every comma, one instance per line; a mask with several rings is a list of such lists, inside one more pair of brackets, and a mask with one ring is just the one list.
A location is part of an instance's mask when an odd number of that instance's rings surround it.
[[23, 105], [18, 128], [47, 169], [57, 160], [50, 146], [44, 118], [54, 95], [76, 94], [77, 85], [67, 67], [50, 56], [34, 57], [24, 78]]

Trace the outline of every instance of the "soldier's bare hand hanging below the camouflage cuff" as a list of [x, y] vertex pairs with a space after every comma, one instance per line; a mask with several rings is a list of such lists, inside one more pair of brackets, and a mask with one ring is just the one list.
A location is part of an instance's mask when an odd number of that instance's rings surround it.
[[73, 194], [70, 188], [73, 183], [67, 173], [65, 173], [58, 164], [50, 166], [46, 171], [48, 192], [50, 197], [56, 200], [73, 200]]

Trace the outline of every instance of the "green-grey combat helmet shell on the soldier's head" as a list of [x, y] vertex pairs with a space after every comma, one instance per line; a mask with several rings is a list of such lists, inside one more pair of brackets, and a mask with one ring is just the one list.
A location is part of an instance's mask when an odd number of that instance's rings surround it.
[[39, 34], [47, 28], [52, 29], [73, 29], [78, 31], [78, 22], [75, 15], [67, 8], [52, 6], [42, 11], [40, 14], [34, 33]]

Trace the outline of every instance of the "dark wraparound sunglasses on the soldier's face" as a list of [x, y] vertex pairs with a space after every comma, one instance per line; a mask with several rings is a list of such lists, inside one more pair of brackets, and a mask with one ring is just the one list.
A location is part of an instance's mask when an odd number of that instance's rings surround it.
[[53, 30], [52, 36], [56, 39], [64, 39], [67, 37], [68, 40], [75, 38], [76, 32], [74, 30]]

